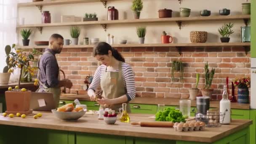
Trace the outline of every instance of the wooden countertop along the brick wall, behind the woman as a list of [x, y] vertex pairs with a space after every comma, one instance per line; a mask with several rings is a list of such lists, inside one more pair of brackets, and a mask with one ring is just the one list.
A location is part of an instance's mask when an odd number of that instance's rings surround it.
[[[75, 100], [90, 101], [89, 96], [86, 95], [74, 95], [74, 96], [61, 96], [61, 100]], [[132, 104], [165, 104], [171, 106], [179, 106], [179, 100], [177, 98], [156, 98], [156, 97], [136, 97], [130, 103]], [[196, 101], [191, 101], [191, 106], [196, 107]], [[219, 101], [210, 101], [210, 107], [219, 107]], [[237, 102], [231, 103], [232, 109], [250, 109], [250, 104], [238, 104]]]

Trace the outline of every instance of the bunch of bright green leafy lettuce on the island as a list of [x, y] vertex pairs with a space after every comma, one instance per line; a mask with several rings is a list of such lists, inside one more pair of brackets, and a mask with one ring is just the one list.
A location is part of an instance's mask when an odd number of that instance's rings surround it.
[[156, 121], [169, 121], [169, 122], [185, 122], [185, 117], [179, 110], [173, 108], [166, 108], [164, 111], [159, 111], [155, 115]]

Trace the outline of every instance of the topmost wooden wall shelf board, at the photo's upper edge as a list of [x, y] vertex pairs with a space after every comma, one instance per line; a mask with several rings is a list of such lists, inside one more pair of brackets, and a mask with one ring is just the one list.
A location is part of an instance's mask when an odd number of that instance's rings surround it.
[[[106, 1], [117, 1], [117, 0], [106, 0]], [[30, 3], [18, 3], [18, 7], [30, 7], [37, 5], [63, 5], [63, 4], [76, 4], [76, 3], [93, 3], [100, 2], [100, 0], [48, 0], [40, 2]]]

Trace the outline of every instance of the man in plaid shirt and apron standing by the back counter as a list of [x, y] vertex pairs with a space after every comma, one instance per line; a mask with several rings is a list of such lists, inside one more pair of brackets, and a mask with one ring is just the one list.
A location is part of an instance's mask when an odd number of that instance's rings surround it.
[[56, 107], [59, 105], [59, 96], [61, 93], [60, 87], [71, 88], [72, 83], [70, 80], [59, 81], [59, 65], [56, 60], [55, 54], [61, 53], [63, 48], [63, 37], [59, 34], [53, 34], [49, 40], [49, 46], [45, 49], [43, 56], [40, 57], [39, 64], [39, 92], [53, 93], [53, 98]]

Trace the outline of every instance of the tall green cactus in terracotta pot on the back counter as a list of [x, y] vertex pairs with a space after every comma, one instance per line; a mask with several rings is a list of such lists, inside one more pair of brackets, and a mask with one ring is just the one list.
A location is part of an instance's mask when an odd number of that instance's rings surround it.
[[211, 83], [213, 81], [213, 76], [215, 74], [215, 69], [211, 68], [209, 71], [209, 64], [208, 62], [205, 64], [205, 88], [201, 89], [203, 96], [209, 96], [213, 94], [213, 89], [211, 88]]

